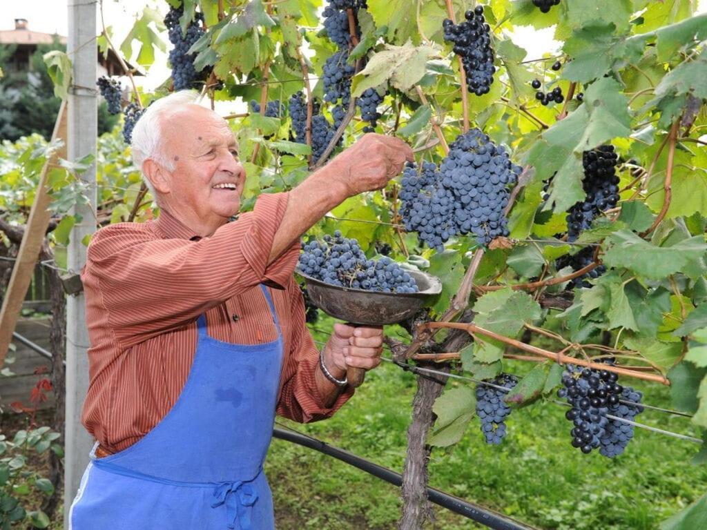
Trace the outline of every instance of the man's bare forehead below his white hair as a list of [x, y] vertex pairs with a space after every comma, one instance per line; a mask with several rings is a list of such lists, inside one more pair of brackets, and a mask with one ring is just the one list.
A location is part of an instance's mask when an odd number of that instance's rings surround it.
[[238, 146], [228, 122], [211, 109], [185, 105], [162, 117], [163, 138], [181, 148], [203, 143]]

